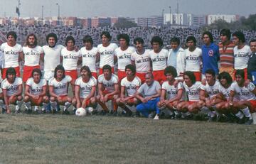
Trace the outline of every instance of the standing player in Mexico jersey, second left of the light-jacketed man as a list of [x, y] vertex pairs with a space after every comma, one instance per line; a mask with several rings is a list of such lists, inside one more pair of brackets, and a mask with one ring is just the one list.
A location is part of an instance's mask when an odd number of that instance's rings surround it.
[[135, 38], [134, 45], [136, 47], [136, 51], [131, 55], [132, 65], [136, 66], [136, 75], [140, 80], [142, 80], [142, 83], [144, 83], [146, 72], [151, 71], [149, 50], [145, 50], [144, 40], [142, 38]]

